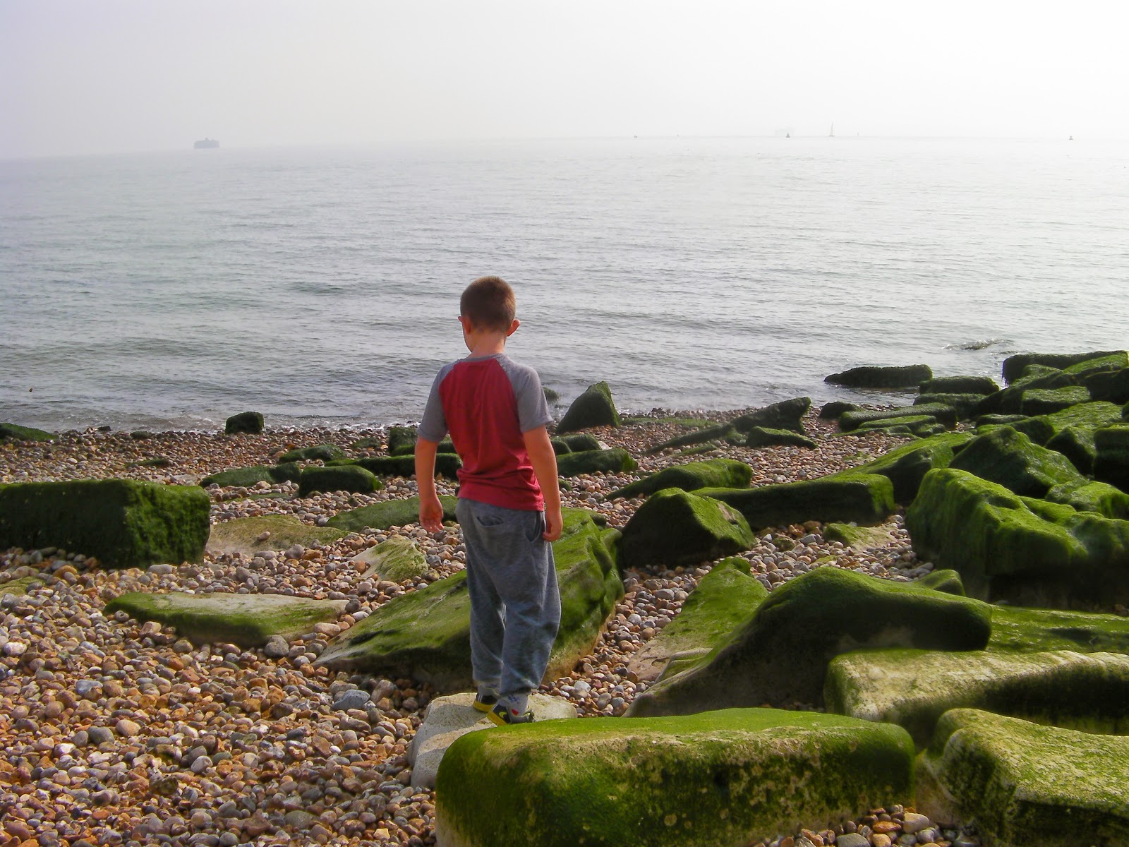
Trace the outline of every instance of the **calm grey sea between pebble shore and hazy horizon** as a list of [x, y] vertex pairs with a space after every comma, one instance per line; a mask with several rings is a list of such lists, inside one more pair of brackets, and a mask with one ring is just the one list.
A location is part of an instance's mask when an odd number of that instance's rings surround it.
[[567, 403], [732, 409], [863, 364], [1124, 348], [1129, 145], [624, 139], [0, 163], [0, 420], [417, 419], [458, 294]]

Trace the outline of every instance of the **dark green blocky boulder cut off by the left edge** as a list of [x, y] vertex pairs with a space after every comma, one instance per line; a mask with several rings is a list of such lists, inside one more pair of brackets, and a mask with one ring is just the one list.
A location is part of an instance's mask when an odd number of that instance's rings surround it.
[[106, 568], [200, 561], [210, 504], [199, 486], [139, 480], [0, 484], [0, 550], [61, 547]]

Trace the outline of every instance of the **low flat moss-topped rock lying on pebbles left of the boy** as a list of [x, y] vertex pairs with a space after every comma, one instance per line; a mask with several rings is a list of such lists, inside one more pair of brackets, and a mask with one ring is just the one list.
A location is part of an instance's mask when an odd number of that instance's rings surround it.
[[315, 623], [344, 611], [344, 600], [310, 600], [282, 594], [149, 594], [130, 592], [106, 604], [106, 614], [123, 611], [140, 621], [155, 620], [193, 644], [230, 643], [262, 647], [271, 636], [312, 632]]

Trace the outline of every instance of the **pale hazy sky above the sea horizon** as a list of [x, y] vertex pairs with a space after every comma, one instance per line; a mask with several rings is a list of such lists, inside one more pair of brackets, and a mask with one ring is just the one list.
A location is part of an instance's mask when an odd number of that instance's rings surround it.
[[0, 0], [0, 158], [417, 138], [1129, 138], [1129, 3]]

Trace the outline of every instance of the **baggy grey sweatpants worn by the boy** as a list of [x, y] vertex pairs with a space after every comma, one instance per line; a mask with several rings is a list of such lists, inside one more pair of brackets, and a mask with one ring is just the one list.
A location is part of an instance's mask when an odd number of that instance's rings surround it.
[[541, 684], [561, 619], [545, 517], [460, 498], [471, 594], [471, 669], [502, 697]]

